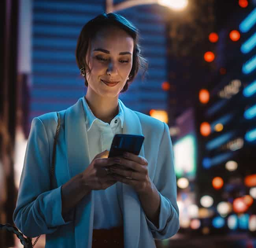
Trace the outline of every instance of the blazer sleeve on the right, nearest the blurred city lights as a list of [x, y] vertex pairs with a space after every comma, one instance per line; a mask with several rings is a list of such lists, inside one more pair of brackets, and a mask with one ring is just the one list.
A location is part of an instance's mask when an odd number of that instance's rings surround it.
[[156, 174], [153, 179], [153, 183], [160, 195], [158, 227], [145, 215], [154, 239], [168, 239], [176, 234], [180, 228], [173, 147], [169, 128], [164, 122], [163, 126], [163, 136], [158, 152]]

